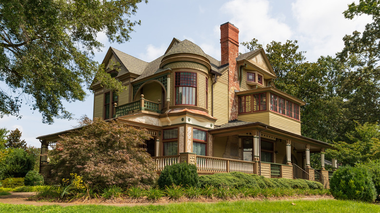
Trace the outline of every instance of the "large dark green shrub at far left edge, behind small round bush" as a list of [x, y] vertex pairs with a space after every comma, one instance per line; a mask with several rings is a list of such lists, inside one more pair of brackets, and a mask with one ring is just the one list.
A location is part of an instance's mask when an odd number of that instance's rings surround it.
[[[7, 150], [3, 159], [3, 177], [25, 177], [33, 169], [35, 157], [23, 149]], [[0, 175], [1, 176], [1, 175]]]

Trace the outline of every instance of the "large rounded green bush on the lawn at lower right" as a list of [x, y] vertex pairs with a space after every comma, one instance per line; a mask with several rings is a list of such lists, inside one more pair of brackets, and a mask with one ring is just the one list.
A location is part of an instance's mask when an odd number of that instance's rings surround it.
[[330, 192], [337, 199], [373, 202], [377, 193], [366, 168], [341, 167], [330, 179]]

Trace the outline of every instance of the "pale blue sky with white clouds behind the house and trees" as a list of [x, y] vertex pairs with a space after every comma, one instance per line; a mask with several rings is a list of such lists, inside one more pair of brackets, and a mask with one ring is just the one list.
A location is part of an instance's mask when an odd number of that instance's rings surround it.
[[[220, 25], [226, 22], [239, 28], [239, 42], [252, 38], [261, 44], [271, 41], [297, 40], [300, 51], [306, 51], [306, 61], [316, 61], [321, 55], [335, 55], [342, 50], [344, 35], [362, 32], [368, 16], [345, 19], [342, 12], [353, 0], [150, 0], [139, 3], [133, 20], [141, 20], [134, 28], [130, 41], [109, 43], [104, 33], [98, 40], [104, 44], [95, 60], [102, 62], [110, 46], [134, 57], [151, 62], [163, 55], [173, 37], [188, 39], [212, 57], [220, 60]], [[239, 52], [246, 53], [242, 45]], [[0, 85], [3, 87], [3, 84]], [[1, 88], [2, 89], [2, 88]], [[63, 102], [75, 114], [73, 120], [55, 119], [43, 124], [42, 116], [30, 106], [21, 107], [21, 119], [4, 116], [0, 128], [19, 128], [21, 139], [28, 145], [40, 147], [38, 136], [73, 128], [83, 115], [92, 118], [94, 95], [87, 90], [84, 102]]]

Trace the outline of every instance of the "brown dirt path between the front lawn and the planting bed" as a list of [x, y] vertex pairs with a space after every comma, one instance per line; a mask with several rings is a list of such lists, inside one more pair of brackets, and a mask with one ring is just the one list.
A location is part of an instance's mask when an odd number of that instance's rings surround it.
[[[58, 205], [58, 206], [73, 206], [73, 205], [104, 205], [104, 206], [147, 206], [147, 205], [167, 205], [170, 202], [165, 203], [55, 203], [55, 202], [37, 202], [37, 201], [31, 201], [28, 200], [30, 196], [35, 195], [34, 192], [14, 192], [11, 193], [12, 195], [3, 195], [0, 196], [0, 203], [7, 203], [7, 204], [25, 204], [25, 205], [35, 205], [35, 206], [44, 206], [44, 205]], [[289, 197], [283, 197], [283, 198], [271, 198], [268, 200], [274, 201], [274, 200], [320, 200], [320, 199], [334, 199], [331, 196], [305, 196], [303, 198], [289, 198]], [[252, 199], [252, 200], [260, 200], [260, 199]]]

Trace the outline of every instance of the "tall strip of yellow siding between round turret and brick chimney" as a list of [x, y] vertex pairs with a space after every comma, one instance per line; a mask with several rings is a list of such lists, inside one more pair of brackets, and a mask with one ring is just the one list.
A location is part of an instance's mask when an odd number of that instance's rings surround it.
[[215, 125], [228, 123], [228, 85], [216, 82], [214, 85], [213, 117], [218, 119]]

